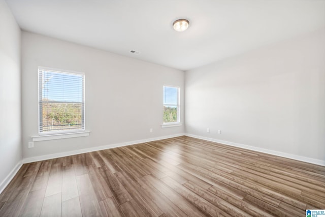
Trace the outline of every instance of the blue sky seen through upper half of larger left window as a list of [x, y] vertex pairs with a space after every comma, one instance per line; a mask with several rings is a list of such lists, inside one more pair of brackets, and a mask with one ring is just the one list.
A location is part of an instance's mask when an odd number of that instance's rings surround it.
[[43, 100], [82, 102], [82, 75], [43, 71]]

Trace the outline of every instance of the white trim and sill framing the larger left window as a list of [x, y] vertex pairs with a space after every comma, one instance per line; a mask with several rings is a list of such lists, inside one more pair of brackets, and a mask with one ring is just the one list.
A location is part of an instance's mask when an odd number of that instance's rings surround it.
[[[79, 75], [85, 75], [83, 72], [77, 72], [77, 71], [72, 71], [72, 70], [63, 70], [63, 69], [55, 69], [55, 68], [49, 68], [49, 67], [38, 67], [38, 73], [40, 70], [45, 70], [45, 71], [53, 71], [53, 72], [63, 72], [67, 74], [79, 74]], [[38, 79], [40, 78], [38, 74]], [[38, 80], [38, 85], [40, 81]], [[40, 132], [40, 96], [38, 96], [38, 132], [39, 136], [31, 136], [32, 141], [45, 141], [45, 140], [53, 140], [53, 139], [63, 139], [63, 138], [74, 138], [74, 137], [82, 137], [82, 136], [89, 136], [90, 131], [85, 131], [86, 130], [86, 81], [84, 80], [84, 89], [83, 89], [83, 94], [84, 94], [84, 129], [82, 130], [77, 130], [77, 131], [65, 131], [63, 133], [61, 132]], [[38, 87], [38, 95], [40, 95], [40, 87]], [[61, 137], [60, 137], [61, 135]], [[35, 138], [35, 139], [34, 139]], [[39, 139], [38, 139], [39, 138]]]

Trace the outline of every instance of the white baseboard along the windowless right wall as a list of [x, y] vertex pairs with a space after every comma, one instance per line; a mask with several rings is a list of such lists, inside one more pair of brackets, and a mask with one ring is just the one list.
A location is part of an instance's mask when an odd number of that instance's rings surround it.
[[198, 136], [198, 135], [193, 135], [193, 134], [185, 134], [185, 136], [193, 137], [193, 138], [197, 138], [197, 139], [203, 139], [203, 140], [207, 140], [207, 141], [211, 141], [211, 142], [217, 142], [217, 143], [221, 143], [221, 144], [225, 144], [225, 145], [231, 145], [231, 146], [235, 146], [235, 147], [245, 148], [248, 150], [273, 154], [275, 156], [289, 158], [289, 159], [293, 159], [293, 160], [297, 160], [297, 161], [303, 161], [303, 162], [307, 162], [307, 163], [311, 163], [311, 164], [317, 164], [320, 166], [325, 166], [325, 160], [322, 161], [322, 160], [318, 160], [318, 159], [307, 158], [307, 157], [298, 156], [295, 154], [285, 153], [285, 152], [281, 152], [281, 151], [275, 151], [275, 150], [270, 150], [270, 149], [266, 149], [266, 148], [258, 148], [258, 147], [254, 147], [254, 146], [250, 146], [250, 145], [244, 145], [244, 144], [240, 144], [240, 143], [229, 142], [229, 141], [224, 141], [224, 140], [219, 140], [219, 139], [213, 139], [213, 138]]

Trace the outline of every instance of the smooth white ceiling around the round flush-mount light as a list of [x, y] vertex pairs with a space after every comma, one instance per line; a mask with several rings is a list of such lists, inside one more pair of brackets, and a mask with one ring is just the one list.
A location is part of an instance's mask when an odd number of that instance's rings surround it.
[[23, 30], [181, 70], [325, 27], [325, 0], [6, 2]]

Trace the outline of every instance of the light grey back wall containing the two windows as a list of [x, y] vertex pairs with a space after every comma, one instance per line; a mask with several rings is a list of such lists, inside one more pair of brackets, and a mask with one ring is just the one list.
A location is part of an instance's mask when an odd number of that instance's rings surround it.
[[[35, 142], [34, 148], [28, 148], [30, 136], [38, 135], [39, 66], [85, 73], [90, 136]], [[180, 86], [184, 93], [184, 72], [22, 32], [23, 158], [183, 134], [184, 126], [160, 127], [164, 84]]]

